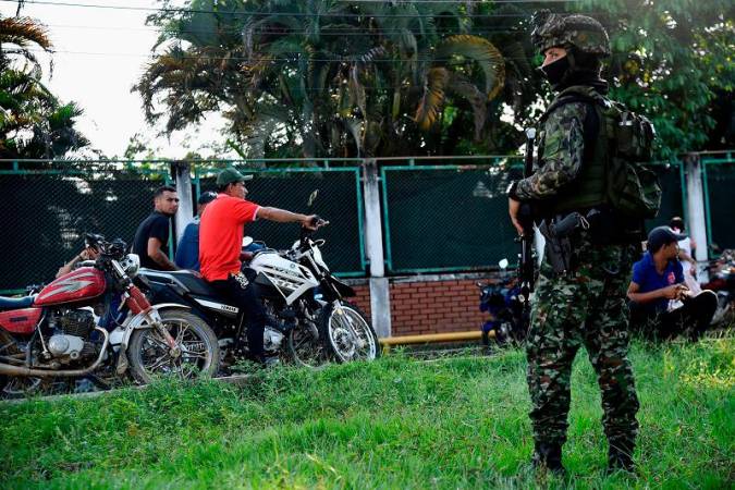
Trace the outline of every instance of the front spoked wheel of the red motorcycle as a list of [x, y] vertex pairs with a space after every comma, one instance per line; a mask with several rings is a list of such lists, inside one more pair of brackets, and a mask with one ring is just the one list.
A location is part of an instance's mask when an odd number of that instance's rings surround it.
[[133, 377], [148, 383], [157, 376], [210, 377], [220, 365], [220, 348], [211, 328], [196, 315], [180, 309], [160, 314], [161, 323], [176, 341], [172, 351], [155, 328], [133, 332], [127, 350]]

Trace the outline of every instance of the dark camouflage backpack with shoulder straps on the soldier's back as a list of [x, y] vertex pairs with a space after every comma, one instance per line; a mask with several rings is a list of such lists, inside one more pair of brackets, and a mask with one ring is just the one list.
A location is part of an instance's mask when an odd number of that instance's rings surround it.
[[585, 160], [595, 158], [599, 136], [607, 139], [604, 201], [626, 217], [656, 218], [661, 207], [661, 185], [647, 167], [652, 160], [653, 124], [623, 103], [583, 91], [560, 97], [546, 114], [571, 102], [584, 102], [595, 109], [584, 121]]

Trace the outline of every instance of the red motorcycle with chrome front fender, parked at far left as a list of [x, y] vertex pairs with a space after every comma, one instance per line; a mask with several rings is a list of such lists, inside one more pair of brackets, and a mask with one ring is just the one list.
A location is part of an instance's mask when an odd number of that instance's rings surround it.
[[[49, 380], [106, 371], [147, 383], [157, 375], [212, 376], [215, 332], [188, 307], [152, 306], [133, 284], [137, 255], [125, 243], [86, 235], [99, 257], [21, 298], [0, 296], [0, 396], [42, 390]], [[97, 316], [97, 315], [99, 316]]]

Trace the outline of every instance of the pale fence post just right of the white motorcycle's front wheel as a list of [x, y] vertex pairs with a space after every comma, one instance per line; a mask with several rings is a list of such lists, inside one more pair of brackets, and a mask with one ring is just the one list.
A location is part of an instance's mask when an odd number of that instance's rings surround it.
[[370, 262], [370, 311], [378, 336], [391, 336], [391, 293], [383, 259], [383, 232], [380, 219], [380, 186], [375, 160], [363, 163], [365, 198], [365, 246]]

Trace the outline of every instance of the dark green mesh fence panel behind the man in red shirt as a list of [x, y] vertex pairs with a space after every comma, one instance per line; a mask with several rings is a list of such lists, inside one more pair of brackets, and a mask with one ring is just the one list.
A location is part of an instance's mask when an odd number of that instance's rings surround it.
[[[365, 275], [363, 246], [363, 192], [358, 168], [336, 169], [272, 169], [257, 170], [237, 167], [255, 179], [246, 182], [247, 199], [260, 206], [287, 209], [294, 212], [319, 215], [330, 224], [314, 236], [324, 238], [321, 248], [327, 265], [340, 275]], [[215, 172], [198, 169], [199, 192], [215, 191]], [[318, 191], [313, 206], [309, 196]], [[272, 248], [287, 248], [298, 240], [297, 224], [256, 221], [245, 233], [264, 241]]]

